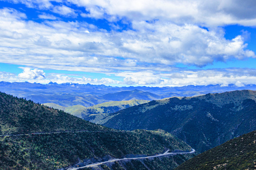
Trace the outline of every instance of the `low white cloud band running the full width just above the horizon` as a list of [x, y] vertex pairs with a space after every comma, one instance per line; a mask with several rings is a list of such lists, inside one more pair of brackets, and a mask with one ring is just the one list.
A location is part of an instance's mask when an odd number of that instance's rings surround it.
[[173, 70], [168, 73], [153, 72], [119, 72], [115, 76], [119, 80], [103, 77], [90, 78], [73, 74], [45, 75], [43, 70], [24, 69], [18, 76], [13, 73], [0, 72], [0, 81], [30, 82], [47, 84], [50, 81], [61, 83], [79, 83], [93, 85], [146, 85], [146, 86], [184, 86], [184, 85], [216, 85], [227, 86], [229, 84], [238, 87], [255, 84], [256, 69], [208, 69], [208, 70]]

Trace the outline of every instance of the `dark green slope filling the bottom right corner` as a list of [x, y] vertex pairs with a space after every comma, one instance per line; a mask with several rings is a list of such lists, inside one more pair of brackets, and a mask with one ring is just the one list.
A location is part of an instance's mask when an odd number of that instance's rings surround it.
[[184, 162], [175, 170], [255, 170], [256, 131], [229, 140]]

